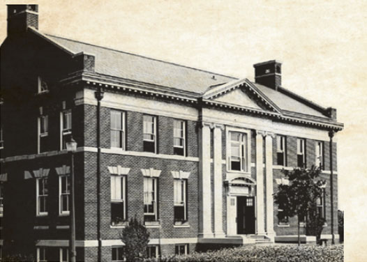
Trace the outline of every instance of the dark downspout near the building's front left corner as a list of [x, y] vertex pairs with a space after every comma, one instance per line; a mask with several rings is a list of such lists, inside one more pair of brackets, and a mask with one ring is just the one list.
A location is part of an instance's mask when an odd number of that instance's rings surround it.
[[100, 234], [100, 100], [103, 99], [103, 91], [98, 86], [94, 93], [97, 99], [97, 239], [98, 239], [98, 261], [102, 261], [102, 239]]

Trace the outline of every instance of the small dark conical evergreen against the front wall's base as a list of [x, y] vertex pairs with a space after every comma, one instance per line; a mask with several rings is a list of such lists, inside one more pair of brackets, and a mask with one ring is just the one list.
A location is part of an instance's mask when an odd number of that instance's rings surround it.
[[125, 243], [124, 254], [127, 261], [143, 261], [147, 257], [149, 232], [136, 217], [130, 219], [120, 237]]

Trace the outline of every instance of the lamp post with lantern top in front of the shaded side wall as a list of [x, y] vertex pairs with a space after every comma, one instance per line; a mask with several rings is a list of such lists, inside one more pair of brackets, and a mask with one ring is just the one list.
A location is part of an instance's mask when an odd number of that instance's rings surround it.
[[75, 251], [75, 191], [74, 191], [74, 153], [77, 151], [77, 142], [70, 136], [66, 142], [66, 149], [70, 153], [70, 242], [69, 257], [71, 262], [75, 262], [77, 252]]

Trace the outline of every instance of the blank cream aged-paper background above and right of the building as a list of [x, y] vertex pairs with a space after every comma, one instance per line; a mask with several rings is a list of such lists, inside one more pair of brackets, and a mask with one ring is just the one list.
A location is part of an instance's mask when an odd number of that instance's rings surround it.
[[[6, 38], [1, 1], [0, 40]], [[345, 261], [367, 261], [367, 1], [31, 1], [39, 29], [237, 77], [283, 61], [283, 86], [338, 109]]]

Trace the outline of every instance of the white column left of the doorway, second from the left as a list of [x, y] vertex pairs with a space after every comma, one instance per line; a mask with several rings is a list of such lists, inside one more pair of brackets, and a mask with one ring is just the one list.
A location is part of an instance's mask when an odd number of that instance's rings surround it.
[[223, 174], [222, 174], [222, 130], [223, 125], [214, 128], [214, 236], [223, 238]]

